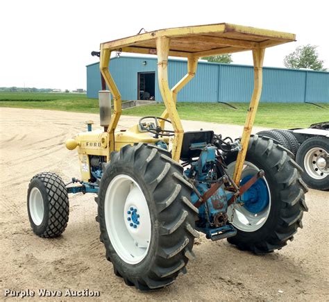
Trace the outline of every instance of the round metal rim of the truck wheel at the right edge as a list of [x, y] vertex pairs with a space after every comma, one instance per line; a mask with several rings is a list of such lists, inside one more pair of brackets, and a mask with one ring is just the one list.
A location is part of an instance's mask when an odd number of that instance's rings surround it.
[[329, 154], [321, 147], [306, 152], [304, 157], [305, 172], [314, 179], [323, 179], [329, 175]]

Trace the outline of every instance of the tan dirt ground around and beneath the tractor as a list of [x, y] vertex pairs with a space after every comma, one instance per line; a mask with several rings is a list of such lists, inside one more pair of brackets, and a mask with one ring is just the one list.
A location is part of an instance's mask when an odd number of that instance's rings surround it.
[[[31, 177], [53, 171], [64, 181], [79, 177], [76, 151], [64, 142], [85, 131], [84, 121], [98, 115], [1, 108], [0, 137], [0, 287], [10, 290], [99, 291], [99, 300], [251, 300], [329, 301], [329, 192], [310, 190], [309, 212], [293, 242], [280, 251], [256, 256], [201, 236], [194, 245], [196, 260], [174, 285], [142, 293], [113, 274], [99, 242], [96, 203], [91, 194], [70, 196], [69, 224], [62, 236], [47, 240], [33, 235], [26, 212]], [[120, 126], [135, 123], [122, 117]], [[238, 137], [241, 126], [183, 121], [185, 130], [212, 128]], [[254, 132], [261, 128], [254, 128]], [[74, 299], [74, 298], [71, 298]], [[81, 298], [75, 298], [76, 301]], [[61, 298], [69, 300], [69, 298]]]

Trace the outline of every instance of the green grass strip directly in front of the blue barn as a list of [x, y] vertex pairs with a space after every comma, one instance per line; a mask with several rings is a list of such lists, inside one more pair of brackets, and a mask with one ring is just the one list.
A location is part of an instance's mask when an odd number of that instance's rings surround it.
[[[178, 103], [181, 119], [192, 121], [212, 121], [219, 124], [243, 125], [248, 110], [247, 103], [231, 103], [237, 110], [222, 103]], [[297, 103], [260, 103], [255, 125], [269, 128], [307, 127], [319, 121], [328, 121], [329, 104], [321, 103], [323, 108], [310, 104]], [[165, 109], [162, 104], [124, 110], [124, 115], [161, 115]]]

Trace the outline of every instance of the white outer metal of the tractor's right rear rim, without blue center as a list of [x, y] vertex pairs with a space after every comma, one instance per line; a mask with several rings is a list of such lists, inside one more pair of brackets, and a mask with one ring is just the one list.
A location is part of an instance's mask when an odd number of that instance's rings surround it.
[[[231, 162], [230, 165], [228, 165], [228, 174], [230, 176], [233, 176], [234, 169], [235, 162]], [[253, 165], [251, 162], [245, 161], [241, 179], [248, 175], [255, 175], [258, 171], [260, 171], [258, 167]], [[258, 230], [264, 226], [267, 218], [269, 217], [269, 212], [271, 210], [271, 192], [269, 191], [269, 184], [267, 183], [266, 178], [263, 177], [262, 179], [265, 181], [267, 191], [269, 192], [269, 204], [266, 208], [264, 208], [264, 210], [262, 210], [262, 212], [257, 214], [249, 212], [243, 205], [239, 204], [233, 204], [228, 207], [227, 215], [228, 218], [231, 219], [230, 223], [233, 224], [233, 226], [235, 226], [238, 230], [243, 230], [244, 232], [255, 232], [255, 230]], [[235, 207], [234, 211], [233, 207]]]

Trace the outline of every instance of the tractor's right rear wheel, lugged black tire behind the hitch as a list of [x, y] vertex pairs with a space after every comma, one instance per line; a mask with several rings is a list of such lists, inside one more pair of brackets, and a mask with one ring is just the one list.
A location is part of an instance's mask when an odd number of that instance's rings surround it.
[[[230, 174], [233, 174], [236, 158], [237, 153], [226, 159]], [[251, 175], [255, 175], [259, 169], [264, 170], [264, 178], [258, 180], [260, 182], [258, 185], [262, 184], [267, 188], [268, 193], [265, 192], [265, 196], [269, 196], [269, 203], [258, 215], [253, 215], [253, 211], [249, 212], [246, 205], [236, 205], [236, 210], [241, 207], [241, 212], [246, 217], [251, 217], [251, 222], [248, 221], [244, 225], [239, 220], [240, 212], [239, 215], [235, 213], [232, 224], [237, 228], [237, 235], [228, 238], [228, 242], [235, 244], [239, 249], [253, 253], [269, 253], [281, 249], [288, 240], [293, 240], [297, 228], [303, 227], [303, 212], [307, 211], [304, 197], [307, 186], [301, 179], [302, 169], [294, 162], [289, 151], [273, 140], [258, 135], [251, 137], [245, 164], [245, 167], [251, 167]], [[243, 179], [244, 171], [242, 171], [242, 181]], [[252, 205], [249, 207], [251, 208]], [[232, 206], [229, 210], [232, 211]], [[230, 213], [228, 211], [228, 217]], [[258, 217], [262, 217], [262, 221], [258, 220]]]

